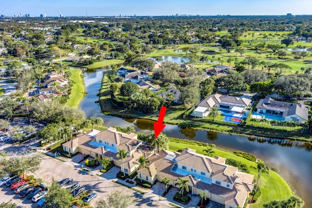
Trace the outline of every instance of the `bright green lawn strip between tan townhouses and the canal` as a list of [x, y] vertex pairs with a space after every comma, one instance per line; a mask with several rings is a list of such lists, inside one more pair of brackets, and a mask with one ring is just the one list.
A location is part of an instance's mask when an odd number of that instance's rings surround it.
[[[197, 146], [192, 144], [182, 144], [182, 143], [176, 143], [171, 141], [169, 144], [169, 149], [171, 151], [177, 151], [185, 148], [191, 148], [196, 150], [197, 153], [203, 154], [203, 150], [207, 149], [203, 146]], [[235, 160], [238, 160], [244, 164], [246, 164], [248, 167], [256, 167], [256, 164], [250, 160], [247, 160], [245, 158], [239, 157], [231, 153], [230, 151], [223, 151], [219, 149], [214, 149], [215, 155], [225, 158], [233, 158]], [[250, 174], [254, 175], [254, 178], [257, 177], [257, 171], [255, 169], [249, 168]], [[251, 208], [262, 208], [263, 204], [273, 201], [274, 199], [277, 200], [285, 200], [290, 198], [293, 193], [292, 189], [289, 187], [289, 185], [286, 183], [286, 181], [279, 176], [276, 172], [273, 172], [270, 170], [270, 175], [268, 174], [262, 174], [260, 178], [260, 188], [261, 188], [261, 197], [258, 199], [258, 201], [255, 204], [251, 205]]]

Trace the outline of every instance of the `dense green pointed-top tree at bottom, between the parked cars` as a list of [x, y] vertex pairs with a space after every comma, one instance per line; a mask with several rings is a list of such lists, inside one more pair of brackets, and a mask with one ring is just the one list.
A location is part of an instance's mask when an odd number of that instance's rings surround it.
[[73, 196], [69, 193], [68, 189], [63, 189], [52, 178], [52, 184], [49, 187], [48, 193], [44, 196], [45, 205], [47, 207], [68, 208], [72, 204]]

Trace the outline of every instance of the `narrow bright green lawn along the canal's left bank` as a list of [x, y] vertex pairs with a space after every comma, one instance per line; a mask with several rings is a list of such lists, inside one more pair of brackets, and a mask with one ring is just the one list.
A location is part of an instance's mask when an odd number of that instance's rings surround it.
[[71, 94], [69, 95], [69, 99], [67, 100], [66, 105], [71, 108], [77, 108], [79, 102], [84, 97], [84, 85], [81, 75], [81, 70], [79, 69], [71, 69], [72, 76], [71, 80], [74, 82], [74, 86]]

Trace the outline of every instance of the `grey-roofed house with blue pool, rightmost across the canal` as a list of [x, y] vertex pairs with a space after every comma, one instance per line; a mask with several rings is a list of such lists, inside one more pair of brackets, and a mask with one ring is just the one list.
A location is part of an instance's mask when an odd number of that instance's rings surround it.
[[[283, 117], [285, 121], [305, 123], [308, 121], [308, 105], [277, 101], [271, 97], [261, 99], [256, 105], [257, 113]], [[270, 117], [273, 118], [273, 117]]]

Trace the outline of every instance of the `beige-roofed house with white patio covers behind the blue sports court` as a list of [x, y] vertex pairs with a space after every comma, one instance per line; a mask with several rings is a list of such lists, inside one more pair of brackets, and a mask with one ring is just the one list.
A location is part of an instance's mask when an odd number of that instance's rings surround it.
[[243, 114], [252, 104], [252, 100], [245, 97], [235, 97], [231, 95], [212, 94], [197, 104], [196, 109], [191, 113], [196, 117], [204, 118], [208, 116], [212, 107], [217, 107], [220, 111], [231, 114]]

